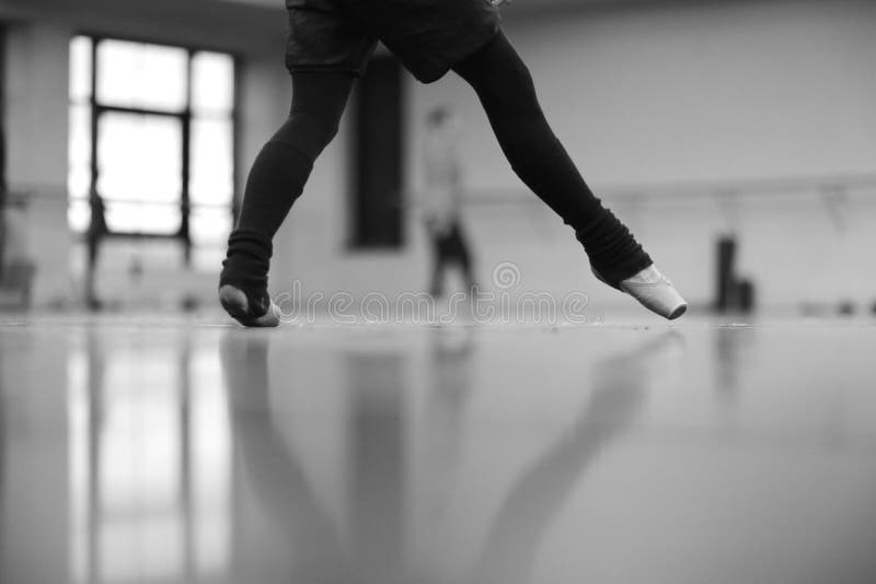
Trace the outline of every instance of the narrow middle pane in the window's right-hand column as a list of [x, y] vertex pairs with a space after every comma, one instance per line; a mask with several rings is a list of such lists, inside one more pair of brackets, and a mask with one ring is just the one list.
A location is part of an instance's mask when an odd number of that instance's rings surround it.
[[193, 120], [189, 197], [194, 205], [231, 202], [234, 191], [233, 152], [230, 120]]

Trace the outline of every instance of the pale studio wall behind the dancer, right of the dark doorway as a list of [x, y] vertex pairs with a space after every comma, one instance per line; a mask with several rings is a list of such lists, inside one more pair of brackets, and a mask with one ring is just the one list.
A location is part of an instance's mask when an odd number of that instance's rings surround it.
[[[600, 192], [623, 185], [876, 173], [872, 2], [667, 2], [520, 19], [514, 10], [506, 10], [508, 35], [532, 70], [557, 135]], [[462, 154], [472, 199], [522, 196], [479, 103], [458, 78], [433, 85], [412, 80], [408, 90], [410, 152], [425, 112], [452, 104], [465, 121]], [[285, 227], [291, 272], [310, 289], [420, 290], [428, 256], [414, 219], [412, 245], [397, 256], [372, 264], [370, 256], [344, 253], [344, 148], [336, 142], [321, 161]], [[407, 174], [416, 190], [418, 161]], [[798, 203], [760, 200], [731, 214], [711, 200], [609, 203], [694, 302], [712, 296], [713, 240], [728, 229], [741, 237], [740, 271], [756, 278], [764, 303], [876, 297], [876, 276], [863, 252], [876, 243], [868, 229], [873, 206], [853, 198], [841, 233], [812, 194]], [[593, 283], [570, 233], [539, 206], [470, 209], [483, 281], [496, 262], [514, 260], [527, 288], [584, 290], [609, 311], [624, 302]]]

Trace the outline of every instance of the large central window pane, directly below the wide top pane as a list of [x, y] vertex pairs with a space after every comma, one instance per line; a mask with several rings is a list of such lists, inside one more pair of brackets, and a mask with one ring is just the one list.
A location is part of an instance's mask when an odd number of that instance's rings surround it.
[[176, 202], [182, 194], [180, 120], [104, 114], [97, 125], [97, 192], [107, 201]]

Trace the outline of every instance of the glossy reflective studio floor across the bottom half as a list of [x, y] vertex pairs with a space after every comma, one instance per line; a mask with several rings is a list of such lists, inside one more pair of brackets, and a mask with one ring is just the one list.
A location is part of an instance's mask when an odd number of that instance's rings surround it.
[[876, 582], [873, 322], [0, 326], [0, 582]]

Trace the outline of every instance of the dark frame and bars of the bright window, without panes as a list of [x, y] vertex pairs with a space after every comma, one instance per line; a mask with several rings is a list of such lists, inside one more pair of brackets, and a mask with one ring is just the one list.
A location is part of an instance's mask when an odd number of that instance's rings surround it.
[[[197, 247], [197, 245], [192, 241], [191, 234], [191, 217], [193, 210], [199, 209], [227, 209], [228, 212], [231, 214], [231, 224], [233, 225], [237, 221], [237, 215], [239, 212], [239, 201], [238, 201], [238, 161], [239, 161], [239, 147], [238, 147], [238, 136], [240, 135], [240, 67], [241, 67], [241, 59], [239, 55], [231, 52], [227, 49], [221, 48], [212, 48], [212, 47], [205, 47], [205, 46], [197, 46], [192, 44], [173, 44], [170, 42], [164, 40], [154, 40], [151, 38], [138, 38], [138, 37], [130, 37], [124, 35], [105, 35], [105, 34], [97, 34], [93, 32], [77, 32], [71, 35], [71, 40], [73, 38], [84, 37], [91, 42], [90, 47], [90, 69], [91, 69], [91, 79], [89, 83], [89, 97], [88, 101], [82, 102], [73, 102], [70, 101], [70, 107], [74, 105], [85, 106], [89, 108], [90, 112], [90, 124], [89, 124], [89, 148], [90, 148], [90, 163], [89, 163], [89, 191], [95, 188], [95, 184], [97, 182], [97, 177], [100, 175], [100, 161], [99, 161], [99, 135], [100, 135], [100, 121], [101, 117], [104, 114], [124, 114], [124, 115], [134, 115], [134, 116], [154, 116], [154, 117], [163, 117], [170, 118], [177, 121], [181, 137], [182, 137], [182, 161], [180, 166], [180, 180], [181, 180], [181, 190], [180, 190], [180, 229], [175, 233], [151, 233], [151, 232], [128, 232], [128, 231], [113, 231], [108, 226], [106, 227], [105, 233], [103, 234], [105, 237], [116, 238], [116, 240], [175, 240], [178, 241], [183, 245], [183, 260], [184, 266], [186, 268], [192, 267], [192, 250], [193, 248]], [[128, 106], [119, 106], [119, 105], [111, 105], [101, 103], [97, 98], [97, 85], [100, 81], [100, 68], [97, 66], [97, 52], [100, 48], [100, 44], [104, 40], [120, 40], [126, 43], [137, 43], [137, 44], [145, 44], [145, 45], [153, 45], [160, 47], [170, 47], [175, 49], [182, 49], [186, 52], [186, 78], [185, 78], [185, 85], [186, 85], [186, 98], [185, 98], [185, 106], [182, 110], [178, 112], [170, 112], [166, 109], [151, 109], [148, 107], [128, 107]], [[193, 60], [195, 56], [199, 52], [215, 52], [228, 56], [231, 58], [233, 63], [233, 97], [231, 102], [231, 110], [228, 114], [227, 119], [231, 122], [231, 185], [232, 185], [232, 192], [231, 199], [228, 203], [222, 205], [205, 205], [205, 203], [197, 203], [192, 205], [191, 201], [191, 178], [192, 178], [192, 129], [193, 124], [195, 120], [198, 119], [210, 119], [209, 116], [197, 116], [193, 112], [192, 107], [192, 100], [193, 100], [193, 92], [192, 92], [192, 79], [193, 79]], [[99, 194], [101, 195], [101, 194]], [[102, 200], [105, 203], [113, 203], [113, 202], [128, 202], [128, 201], [117, 201], [115, 199], [110, 199], [103, 197], [101, 195]], [[68, 201], [73, 200], [82, 200], [79, 197], [73, 198], [69, 197]], [[148, 205], [148, 202], [143, 202], [143, 205]], [[88, 234], [82, 234], [85, 240], [88, 240]]]

